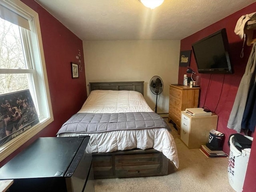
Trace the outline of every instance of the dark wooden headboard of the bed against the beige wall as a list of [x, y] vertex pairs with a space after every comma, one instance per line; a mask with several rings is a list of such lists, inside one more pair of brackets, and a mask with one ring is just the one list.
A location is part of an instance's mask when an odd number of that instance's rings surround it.
[[144, 81], [90, 82], [92, 90], [130, 90], [144, 93]]

